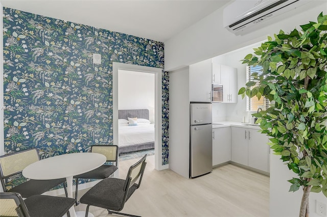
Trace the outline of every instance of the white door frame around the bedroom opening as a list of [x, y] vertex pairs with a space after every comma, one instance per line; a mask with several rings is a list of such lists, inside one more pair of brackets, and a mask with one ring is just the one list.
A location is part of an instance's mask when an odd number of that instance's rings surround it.
[[167, 169], [162, 165], [162, 69], [126, 63], [112, 63], [112, 124], [113, 144], [118, 144], [118, 70], [129, 70], [155, 74], [155, 169]]

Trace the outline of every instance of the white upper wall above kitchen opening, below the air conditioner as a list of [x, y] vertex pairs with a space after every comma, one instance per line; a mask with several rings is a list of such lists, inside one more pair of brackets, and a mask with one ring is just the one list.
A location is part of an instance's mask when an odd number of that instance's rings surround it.
[[266, 40], [267, 35], [293, 30], [308, 21], [317, 21], [321, 11], [327, 14], [325, 0], [311, 0], [297, 9], [266, 20], [252, 33], [236, 36], [223, 28], [223, 8], [201, 19], [165, 42], [165, 70], [189, 66], [223, 53]]

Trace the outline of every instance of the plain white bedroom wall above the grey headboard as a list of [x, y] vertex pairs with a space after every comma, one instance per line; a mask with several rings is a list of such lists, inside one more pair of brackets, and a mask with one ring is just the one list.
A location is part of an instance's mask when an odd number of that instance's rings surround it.
[[155, 74], [118, 70], [118, 110], [149, 110], [154, 122]]

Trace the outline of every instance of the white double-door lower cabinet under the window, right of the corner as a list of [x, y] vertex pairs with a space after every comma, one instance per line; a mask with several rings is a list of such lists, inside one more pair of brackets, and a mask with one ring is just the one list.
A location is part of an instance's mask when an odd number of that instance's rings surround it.
[[268, 136], [258, 129], [231, 127], [231, 161], [269, 172]]

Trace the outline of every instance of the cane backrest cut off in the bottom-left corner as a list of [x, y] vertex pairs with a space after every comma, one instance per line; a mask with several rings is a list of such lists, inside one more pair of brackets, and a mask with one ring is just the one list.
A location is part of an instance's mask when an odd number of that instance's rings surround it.
[[24, 201], [16, 192], [1, 192], [0, 207], [0, 216], [30, 217]]

